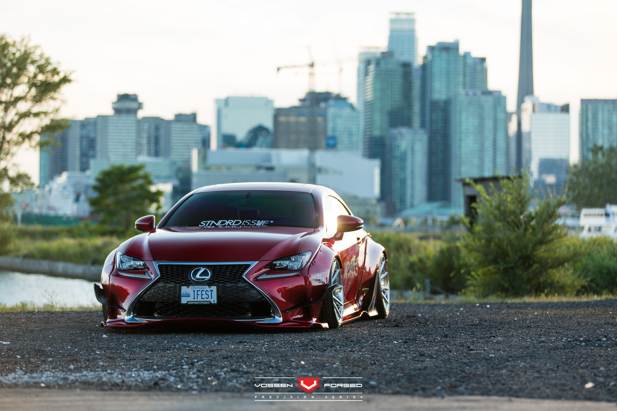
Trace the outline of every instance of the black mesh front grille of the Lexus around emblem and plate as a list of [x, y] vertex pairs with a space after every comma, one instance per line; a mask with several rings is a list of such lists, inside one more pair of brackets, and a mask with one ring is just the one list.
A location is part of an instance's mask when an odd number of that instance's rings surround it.
[[[189, 273], [196, 267], [208, 267], [212, 277], [201, 285], [220, 288], [217, 304], [180, 304], [178, 284], [191, 284]], [[250, 264], [159, 264], [158, 280], [139, 297], [135, 305], [138, 317], [175, 318], [267, 318], [271, 305], [242, 275]]]

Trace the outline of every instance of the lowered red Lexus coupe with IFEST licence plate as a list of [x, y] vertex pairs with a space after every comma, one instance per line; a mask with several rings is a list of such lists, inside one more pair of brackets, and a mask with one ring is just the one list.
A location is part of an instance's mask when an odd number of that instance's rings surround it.
[[234, 183], [186, 194], [105, 260], [104, 326], [162, 322], [337, 328], [386, 318], [386, 251], [334, 191]]

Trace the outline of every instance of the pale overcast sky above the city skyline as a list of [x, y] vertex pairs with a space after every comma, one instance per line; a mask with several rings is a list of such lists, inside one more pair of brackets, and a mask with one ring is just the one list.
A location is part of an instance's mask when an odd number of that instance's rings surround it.
[[[418, 58], [437, 41], [486, 57], [489, 88], [514, 110], [520, 0], [0, 0], [0, 32], [29, 36], [75, 81], [64, 90], [69, 118], [112, 114], [118, 93], [135, 93], [141, 116], [197, 112], [215, 126], [214, 99], [267, 96], [275, 107], [307, 91], [315, 60], [317, 91], [356, 100], [358, 49], [387, 46], [389, 12], [415, 12]], [[578, 159], [581, 98], [617, 98], [617, 1], [534, 0], [534, 86], [541, 101], [571, 104], [571, 160]], [[38, 181], [38, 154], [19, 162]]]

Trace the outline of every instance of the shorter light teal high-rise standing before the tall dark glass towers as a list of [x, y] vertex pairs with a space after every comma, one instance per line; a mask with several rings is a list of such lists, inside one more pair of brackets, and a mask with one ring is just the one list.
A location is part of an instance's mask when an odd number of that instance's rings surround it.
[[426, 202], [428, 140], [424, 130], [396, 127], [390, 129], [389, 141], [392, 167], [387, 183], [394, 212], [399, 213]]

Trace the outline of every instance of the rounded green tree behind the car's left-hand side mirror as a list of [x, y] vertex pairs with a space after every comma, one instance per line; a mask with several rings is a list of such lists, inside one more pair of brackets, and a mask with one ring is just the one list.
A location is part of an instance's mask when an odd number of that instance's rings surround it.
[[135, 220], [159, 209], [163, 192], [152, 191], [152, 176], [145, 165], [112, 165], [96, 177], [97, 197], [89, 199], [99, 226], [117, 233], [128, 233]]

